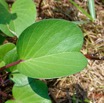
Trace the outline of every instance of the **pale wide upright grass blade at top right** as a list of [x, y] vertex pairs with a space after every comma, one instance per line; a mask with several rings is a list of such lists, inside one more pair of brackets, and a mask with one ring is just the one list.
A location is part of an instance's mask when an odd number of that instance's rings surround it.
[[88, 7], [89, 7], [89, 11], [90, 11], [90, 14], [91, 14], [93, 20], [95, 20], [96, 16], [95, 16], [95, 3], [94, 3], [94, 0], [88, 0]]

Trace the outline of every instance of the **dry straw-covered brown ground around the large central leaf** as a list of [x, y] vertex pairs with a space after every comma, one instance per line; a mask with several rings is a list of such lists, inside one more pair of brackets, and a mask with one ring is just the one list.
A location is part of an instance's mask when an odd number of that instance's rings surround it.
[[[42, 1], [42, 0], [41, 0]], [[75, 0], [88, 11], [87, 0]], [[61, 18], [69, 21], [86, 20], [68, 0], [35, 0], [37, 20]], [[41, 5], [41, 6], [40, 6]], [[53, 103], [104, 103], [104, 2], [95, 0], [96, 20], [81, 24], [84, 32], [83, 54], [91, 55], [87, 67], [69, 77], [47, 80]], [[99, 60], [98, 60], [99, 59]]]

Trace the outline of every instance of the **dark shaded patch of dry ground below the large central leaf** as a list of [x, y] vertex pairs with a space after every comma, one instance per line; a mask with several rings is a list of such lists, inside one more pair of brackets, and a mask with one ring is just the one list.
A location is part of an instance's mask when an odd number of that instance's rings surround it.
[[[51, 83], [49, 83], [49, 86]], [[73, 84], [67, 88], [49, 87], [49, 94], [53, 103], [89, 103], [87, 91], [79, 84]]]

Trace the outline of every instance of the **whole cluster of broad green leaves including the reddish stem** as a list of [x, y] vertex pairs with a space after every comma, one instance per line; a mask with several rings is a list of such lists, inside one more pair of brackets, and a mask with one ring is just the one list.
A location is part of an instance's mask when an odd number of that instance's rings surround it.
[[2, 44], [0, 36], [0, 69], [6, 65], [15, 83], [14, 100], [6, 103], [51, 103], [46, 84], [36, 78], [68, 76], [87, 65], [80, 53], [82, 31], [76, 24], [61, 19], [34, 23], [36, 8], [32, 0], [16, 0], [11, 11], [5, 0], [0, 0], [0, 10], [0, 30], [18, 37], [14, 45]]

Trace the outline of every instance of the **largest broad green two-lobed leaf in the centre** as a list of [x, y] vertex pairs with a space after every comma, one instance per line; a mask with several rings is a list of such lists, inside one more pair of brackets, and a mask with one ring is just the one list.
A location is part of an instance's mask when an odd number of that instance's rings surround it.
[[87, 64], [80, 53], [82, 43], [83, 35], [76, 24], [56, 19], [37, 22], [19, 37], [17, 52], [24, 61], [17, 69], [33, 78], [77, 73]]

